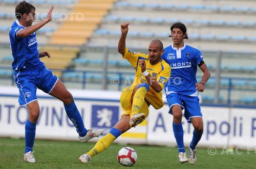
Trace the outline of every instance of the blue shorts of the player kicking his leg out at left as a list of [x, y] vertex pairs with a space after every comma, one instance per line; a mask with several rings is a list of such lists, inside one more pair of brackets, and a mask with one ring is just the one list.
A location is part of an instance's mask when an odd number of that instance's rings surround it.
[[20, 105], [27, 105], [37, 100], [37, 88], [49, 94], [58, 81], [58, 77], [45, 66], [32, 70], [15, 71], [15, 77], [19, 89], [18, 102]]

